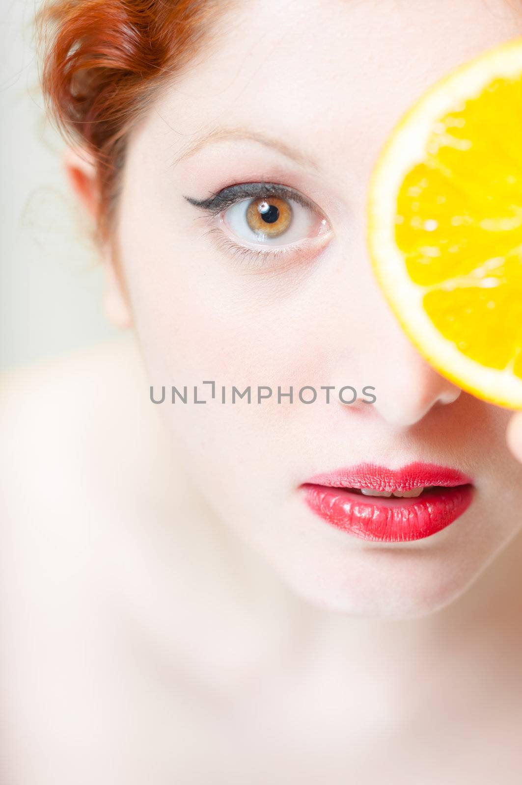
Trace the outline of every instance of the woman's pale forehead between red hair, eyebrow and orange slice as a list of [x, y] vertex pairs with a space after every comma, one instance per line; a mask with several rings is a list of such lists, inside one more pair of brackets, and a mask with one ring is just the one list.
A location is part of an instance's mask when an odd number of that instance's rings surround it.
[[522, 34], [519, 0], [223, 5], [211, 42], [143, 126], [174, 160], [223, 126], [276, 136], [326, 168], [347, 147], [373, 156], [429, 84]]

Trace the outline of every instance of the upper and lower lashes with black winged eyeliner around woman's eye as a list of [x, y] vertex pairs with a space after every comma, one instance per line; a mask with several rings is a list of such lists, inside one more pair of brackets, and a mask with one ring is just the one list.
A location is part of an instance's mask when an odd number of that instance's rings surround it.
[[[185, 199], [189, 204], [205, 210], [211, 217], [216, 217], [224, 210], [227, 210], [229, 207], [244, 199], [261, 199], [270, 196], [278, 196], [282, 199], [292, 199], [308, 210], [312, 210], [316, 213], [318, 212], [317, 207], [309, 199], [306, 199], [300, 192], [294, 191], [293, 188], [265, 182], [230, 185], [219, 192], [213, 193], [207, 199], [193, 199], [189, 196], [185, 196]], [[274, 250], [261, 248], [252, 249], [248, 246], [243, 246], [240, 243], [235, 243], [230, 237], [223, 235], [222, 230], [217, 227], [211, 227], [206, 234], [215, 235], [215, 242], [219, 248], [226, 250], [227, 253], [240, 257], [242, 261], [255, 262], [263, 260], [275, 262], [281, 260], [281, 257], [285, 257], [285, 255], [289, 254], [289, 250], [284, 246], [275, 248]], [[296, 246], [298, 246], [298, 243], [292, 246], [294, 253], [296, 252]]]

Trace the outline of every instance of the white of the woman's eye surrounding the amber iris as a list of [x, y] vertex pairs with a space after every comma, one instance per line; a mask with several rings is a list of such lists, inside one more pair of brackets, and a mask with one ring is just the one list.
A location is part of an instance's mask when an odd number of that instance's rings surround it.
[[[318, 215], [314, 213], [309, 207], [296, 202], [295, 199], [288, 199], [286, 201], [292, 207], [292, 218], [288, 228], [285, 232], [281, 232], [277, 237], [260, 236], [259, 232], [254, 232], [248, 225], [247, 210], [248, 206], [252, 204], [255, 198], [241, 199], [228, 207], [223, 213], [222, 220], [233, 232], [234, 235], [246, 243], [263, 246], [285, 246], [291, 243], [297, 243], [299, 240], [309, 237], [314, 231], [315, 225], [318, 224]], [[270, 199], [267, 199], [270, 201]]]

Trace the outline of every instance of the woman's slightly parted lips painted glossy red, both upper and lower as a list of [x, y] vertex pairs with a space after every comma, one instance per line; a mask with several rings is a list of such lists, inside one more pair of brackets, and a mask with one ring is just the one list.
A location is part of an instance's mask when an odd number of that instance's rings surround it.
[[[348, 489], [411, 491], [436, 486], [416, 498], [365, 496]], [[363, 463], [320, 474], [300, 486], [307, 505], [323, 520], [359, 539], [407, 542], [434, 535], [457, 520], [472, 502], [469, 476], [430, 463], [386, 469]]]

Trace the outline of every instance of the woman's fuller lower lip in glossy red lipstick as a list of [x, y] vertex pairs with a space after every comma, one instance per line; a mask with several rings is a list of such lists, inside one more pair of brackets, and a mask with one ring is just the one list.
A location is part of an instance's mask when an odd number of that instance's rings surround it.
[[364, 496], [345, 488], [304, 484], [307, 505], [323, 520], [359, 539], [410, 542], [436, 534], [472, 502], [472, 485], [437, 487], [417, 498]]

